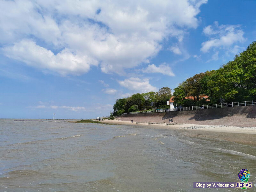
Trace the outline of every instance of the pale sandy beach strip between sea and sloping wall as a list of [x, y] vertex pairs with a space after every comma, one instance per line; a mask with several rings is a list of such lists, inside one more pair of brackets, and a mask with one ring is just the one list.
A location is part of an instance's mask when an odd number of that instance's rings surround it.
[[130, 121], [108, 120], [105, 123], [129, 125], [132, 127], [144, 127], [150, 129], [176, 130], [181, 135], [191, 138], [211, 138], [226, 140], [243, 145], [256, 146], [256, 128], [255, 127], [234, 127], [226, 125], [198, 125], [198, 124], [181, 124], [165, 125], [148, 123], [136, 124]]

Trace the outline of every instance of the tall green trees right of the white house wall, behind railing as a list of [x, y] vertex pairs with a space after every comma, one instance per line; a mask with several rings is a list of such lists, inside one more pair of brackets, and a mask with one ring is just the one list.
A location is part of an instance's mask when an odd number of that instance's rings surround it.
[[[174, 91], [174, 106], [183, 107], [256, 100], [256, 42], [219, 69], [196, 74]], [[189, 96], [194, 99], [186, 99]]]

